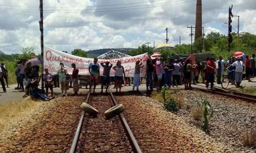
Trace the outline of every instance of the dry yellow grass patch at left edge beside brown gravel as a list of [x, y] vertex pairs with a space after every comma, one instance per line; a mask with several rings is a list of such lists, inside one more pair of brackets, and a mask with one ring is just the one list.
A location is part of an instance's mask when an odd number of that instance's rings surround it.
[[41, 104], [42, 102], [39, 101], [27, 100], [0, 105], [0, 133], [4, 131], [6, 127], [26, 118]]

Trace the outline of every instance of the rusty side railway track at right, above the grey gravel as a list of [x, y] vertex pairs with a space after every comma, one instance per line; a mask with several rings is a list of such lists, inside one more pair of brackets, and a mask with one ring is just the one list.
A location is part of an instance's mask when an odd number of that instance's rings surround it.
[[[199, 85], [196, 85], [199, 86]], [[236, 92], [233, 90], [227, 90], [227, 89], [222, 89], [220, 87], [214, 86], [214, 90], [207, 90], [202, 88], [203, 86], [199, 87], [194, 87], [197, 90], [201, 90], [204, 92], [211, 92], [214, 94], [218, 94], [218, 95], [224, 95], [224, 96], [228, 96], [228, 97], [232, 97], [232, 98], [237, 98], [237, 99], [241, 99], [241, 100], [246, 100], [248, 102], [252, 102], [252, 103], [256, 103], [256, 96], [255, 95], [249, 95], [249, 94], [244, 94], [244, 93], [240, 93], [240, 92]]]

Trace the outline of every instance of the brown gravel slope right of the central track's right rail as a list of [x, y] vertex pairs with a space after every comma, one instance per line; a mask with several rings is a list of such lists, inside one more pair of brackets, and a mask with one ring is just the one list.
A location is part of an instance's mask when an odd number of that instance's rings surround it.
[[[161, 148], [157, 152], [234, 152], [195, 126], [190, 126], [183, 118], [165, 111], [162, 104], [149, 97], [118, 96], [116, 99], [126, 107], [123, 114], [128, 124], [144, 125], [160, 141]], [[134, 134], [135, 137], [138, 135]]]

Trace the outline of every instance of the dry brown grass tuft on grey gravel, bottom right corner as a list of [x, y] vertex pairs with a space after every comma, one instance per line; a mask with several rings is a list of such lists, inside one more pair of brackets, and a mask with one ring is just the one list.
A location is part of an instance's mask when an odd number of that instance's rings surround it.
[[256, 145], [256, 130], [254, 129], [252, 132], [246, 131], [243, 132], [240, 136], [240, 141], [244, 146], [255, 146]]

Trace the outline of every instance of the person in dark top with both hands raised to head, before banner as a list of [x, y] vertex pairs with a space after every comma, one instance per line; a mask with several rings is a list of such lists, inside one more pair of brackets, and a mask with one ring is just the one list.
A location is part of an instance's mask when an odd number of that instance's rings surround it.
[[106, 86], [107, 93], [108, 87], [110, 86], [110, 70], [113, 65], [107, 61], [101, 63], [101, 66], [103, 67], [103, 76], [101, 76], [101, 93], [103, 93], [104, 86]]

